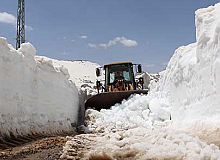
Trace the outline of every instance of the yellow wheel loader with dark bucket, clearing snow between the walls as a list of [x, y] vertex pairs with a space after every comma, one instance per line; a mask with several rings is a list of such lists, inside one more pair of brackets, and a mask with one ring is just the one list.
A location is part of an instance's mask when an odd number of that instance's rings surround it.
[[[101, 76], [101, 68], [96, 69], [97, 77]], [[105, 73], [105, 84], [96, 81], [98, 94], [89, 98], [85, 103], [85, 109], [96, 110], [110, 109], [116, 103], [127, 99], [131, 94], [147, 94], [148, 90], [143, 89], [143, 78], [135, 80], [134, 70], [141, 73], [140, 64], [132, 62], [118, 62], [106, 64], [103, 67]], [[138, 87], [141, 86], [141, 87]]]

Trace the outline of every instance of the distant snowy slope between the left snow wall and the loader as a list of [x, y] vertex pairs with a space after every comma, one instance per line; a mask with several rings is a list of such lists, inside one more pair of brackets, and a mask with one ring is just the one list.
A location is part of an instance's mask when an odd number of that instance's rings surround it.
[[[95, 71], [96, 68], [101, 67], [97, 63], [89, 61], [59, 61], [44, 56], [37, 56], [36, 58], [51, 60], [53, 65], [67, 68], [70, 74], [70, 80], [76, 84], [78, 90], [86, 92], [86, 95], [97, 94], [95, 87], [97, 77]], [[101, 76], [99, 79], [104, 79], [104, 76]]]

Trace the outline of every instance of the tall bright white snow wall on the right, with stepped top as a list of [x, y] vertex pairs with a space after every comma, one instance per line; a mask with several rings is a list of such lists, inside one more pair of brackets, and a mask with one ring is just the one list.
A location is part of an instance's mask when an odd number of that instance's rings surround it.
[[195, 17], [196, 43], [175, 51], [155, 91], [170, 105], [174, 123], [219, 124], [220, 3]]

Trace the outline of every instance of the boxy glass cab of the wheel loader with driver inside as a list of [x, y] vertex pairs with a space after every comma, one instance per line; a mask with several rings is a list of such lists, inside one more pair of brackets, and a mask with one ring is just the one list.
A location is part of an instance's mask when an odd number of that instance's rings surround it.
[[135, 90], [133, 64], [131, 62], [110, 63], [104, 65], [105, 90], [127, 91]]

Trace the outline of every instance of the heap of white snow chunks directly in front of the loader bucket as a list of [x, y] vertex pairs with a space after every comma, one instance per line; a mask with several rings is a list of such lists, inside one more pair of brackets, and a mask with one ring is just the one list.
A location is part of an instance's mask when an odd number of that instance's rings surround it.
[[168, 106], [146, 95], [133, 95], [110, 110], [87, 110], [86, 114], [90, 129], [106, 133], [138, 127], [152, 128], [153, 124], [170, 120]]

